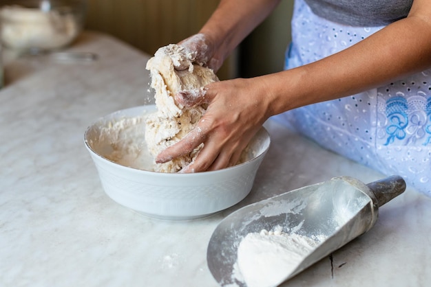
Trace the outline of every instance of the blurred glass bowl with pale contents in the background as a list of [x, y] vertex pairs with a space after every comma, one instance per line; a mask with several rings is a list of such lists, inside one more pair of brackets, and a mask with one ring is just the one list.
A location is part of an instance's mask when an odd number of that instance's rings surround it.
[[1, 43], [23, 51], [50, 51], [72, 43], [81, 32], [85, 0], [0, 1]]

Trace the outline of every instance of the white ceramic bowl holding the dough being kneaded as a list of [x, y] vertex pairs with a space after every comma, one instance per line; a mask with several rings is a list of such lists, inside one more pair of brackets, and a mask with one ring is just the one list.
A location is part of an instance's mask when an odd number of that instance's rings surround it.
[[112, 150], [109, 141], [101, 137], [104, 127], [154, 111], [154, 105], [117, 111], [98, 119], [85, 132], [85, 146], [109, 197], [153, 218], [189, 220], [231, 207], [249, 194], [257, 168], [269, 149], [269, 134], [264, 128], [250, 143], [250, 159], [223, 170], [192, 174], [149, 172], [104, 157], [107, 150]]

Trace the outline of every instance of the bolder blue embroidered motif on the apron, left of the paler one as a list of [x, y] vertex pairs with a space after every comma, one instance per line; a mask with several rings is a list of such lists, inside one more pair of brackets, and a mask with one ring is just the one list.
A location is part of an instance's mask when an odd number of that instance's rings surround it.
[[391, 123], [386, 127], [386, 133], [388, 139], [385, 146], [397, 139], [404, 139], [406, 137], [406, 131], [408, 125], [408, 104], [404, 97], [391, 97], [386, 101], [386, 117]]

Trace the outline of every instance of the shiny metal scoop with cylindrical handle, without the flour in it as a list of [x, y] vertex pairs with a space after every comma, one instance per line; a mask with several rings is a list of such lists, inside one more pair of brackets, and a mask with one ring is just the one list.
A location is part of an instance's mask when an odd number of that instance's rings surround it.
[[209, 270], [221, 286], [245, 287], [235, 262], [238, 246], [248, 233], [280, 225], [286, 233], [324, 238], [294, 271], [286, 274], [286, 281], [370, 230], [379, 207], [404, 190], [406, 183], [400, 176], [368, 185], [341, 176], [242, 207], [224, 218], [213, 232], [207, 249]]

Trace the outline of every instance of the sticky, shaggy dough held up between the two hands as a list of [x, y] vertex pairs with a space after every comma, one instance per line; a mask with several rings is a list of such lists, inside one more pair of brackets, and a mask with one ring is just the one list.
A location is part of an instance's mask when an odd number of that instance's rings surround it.
[[[167, 45], [156, 51], [147, 62], [151, 73], [158, 111], [149, 115], [145, 127], [145, 141], [149, 152], [156, 157], [174, 143], [180, 141], [199, 122], [207, 109], [206, 104], [185, 108], [174, 100], [178, 91], [200, 89], [218, 81], [212, 69], [193, 63], [195, 55], [180, 45]], [[178, 71], [175, 67], [188, 67]], [[167, 163], [154, 164], [156, 172], [178, 172], [196, 157], [199, 146], [190, 154]]]

